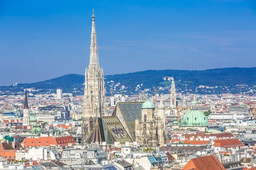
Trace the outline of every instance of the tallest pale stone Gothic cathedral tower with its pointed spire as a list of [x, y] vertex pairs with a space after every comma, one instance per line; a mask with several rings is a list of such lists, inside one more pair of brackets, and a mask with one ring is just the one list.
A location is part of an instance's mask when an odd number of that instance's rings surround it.
[[85, 68], [82, 142], [87, 141], [96, 119], [106, 113], [103, 68], [100, 67], [98, 61], [98, 46], [94, 18], [94, 10], [92, 10], [90, 63], [89, 66]]

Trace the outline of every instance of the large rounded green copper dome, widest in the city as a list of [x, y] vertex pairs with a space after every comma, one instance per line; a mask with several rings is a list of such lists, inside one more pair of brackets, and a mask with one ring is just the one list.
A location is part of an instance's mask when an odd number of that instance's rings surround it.
[[181, 127], [208, 126], [208, 121], [204, 113], [196, 109], [191, 109], [187, 111], [182, 117], [182, 119], [180, 120], [180, 126]]

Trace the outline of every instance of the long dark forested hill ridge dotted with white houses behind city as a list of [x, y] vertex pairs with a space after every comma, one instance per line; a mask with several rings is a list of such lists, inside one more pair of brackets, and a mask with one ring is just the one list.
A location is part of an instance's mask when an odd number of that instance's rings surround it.
[[[106, 95], [137, 94], [141, 90], [154, 93], [167, 93], [170, 90], [171, 78], [174, 76], [177, 92], [198, 94], [255, 93], [256, 67], [253, 68], [216, 68], [208, 70], [146, 70], [128, 74], [105, 76]], [[169, 79], [169, 80], [168, 80]], [[51, 80], [17, 86], [1, 86], [1, 91], [21, 91], [21, 88], [47, 89], [62, 88], [63, 92], [83, 94], [84, 75], [68, 74]], [[76, 90], [74, 90], [76, 88]]]

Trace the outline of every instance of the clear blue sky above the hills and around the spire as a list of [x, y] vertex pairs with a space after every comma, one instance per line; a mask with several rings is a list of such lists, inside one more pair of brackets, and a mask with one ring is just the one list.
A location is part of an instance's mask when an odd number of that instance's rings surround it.
[[254, 67], [254, 0], [0, 0], [0, 85], [84, 74], [92, 8], [104, 74]]

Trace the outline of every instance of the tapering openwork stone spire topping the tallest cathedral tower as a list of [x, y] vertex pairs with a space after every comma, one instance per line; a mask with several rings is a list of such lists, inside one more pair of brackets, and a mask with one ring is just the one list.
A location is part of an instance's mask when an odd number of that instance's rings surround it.
[[92, 32], [91, 32], [91, 46], [90, 46], [90, 64], [89, 67], [100, 67], [98, 61], [98, 45], [96, 38], [96, 29], [95, 29], [95, 16], [94, 9], [92, 9]]

